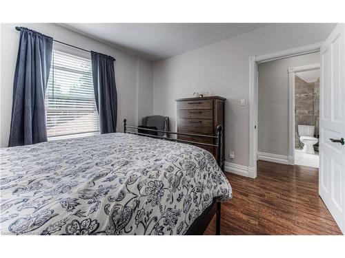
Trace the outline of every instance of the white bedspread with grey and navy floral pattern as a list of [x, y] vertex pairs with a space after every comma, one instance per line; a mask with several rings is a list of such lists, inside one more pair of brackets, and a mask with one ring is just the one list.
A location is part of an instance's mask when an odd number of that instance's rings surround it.
[[1, 234], [182, 235], [232, 190], [198, 147], [128, 133], [0, 149]]

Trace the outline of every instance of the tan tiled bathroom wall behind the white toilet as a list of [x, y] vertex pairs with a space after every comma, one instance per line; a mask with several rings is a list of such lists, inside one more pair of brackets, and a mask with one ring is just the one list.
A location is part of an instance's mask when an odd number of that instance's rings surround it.
[[319, 78], [307, 83], [295, 76], [295, 148], [299, 149], [297, 125], [314, 125], [315, 137], [319, 138]]

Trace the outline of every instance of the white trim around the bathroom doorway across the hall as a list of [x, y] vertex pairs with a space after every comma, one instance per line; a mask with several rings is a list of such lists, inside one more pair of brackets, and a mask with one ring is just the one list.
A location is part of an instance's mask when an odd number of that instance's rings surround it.
[[295, 164], [295, 73], [320, 69], [319, 63], [288, 68], [288, 155]]

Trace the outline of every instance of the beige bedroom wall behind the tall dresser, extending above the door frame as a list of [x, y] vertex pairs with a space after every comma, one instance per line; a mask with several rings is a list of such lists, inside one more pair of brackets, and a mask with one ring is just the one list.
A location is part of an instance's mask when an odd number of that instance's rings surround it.
[[[154, 63], [154, 114], [176, 128], [176, 98], [210, 89], [226, 100], [226, 159], [248, 166], [248, 58], [324, 41], [335, 24], [275, 24]], [[240, 99], [246, 106], [240, 106]], [[286, 117], [287, 120], [287, 117]], [[235, 151], [235, 159], [228, 151]]]

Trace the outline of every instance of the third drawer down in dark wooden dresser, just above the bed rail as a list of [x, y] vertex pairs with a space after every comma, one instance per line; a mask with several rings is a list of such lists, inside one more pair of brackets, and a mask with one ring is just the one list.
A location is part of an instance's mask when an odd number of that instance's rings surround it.
[[213, 120], [179, 118], [177, 131], [213, 135]]

